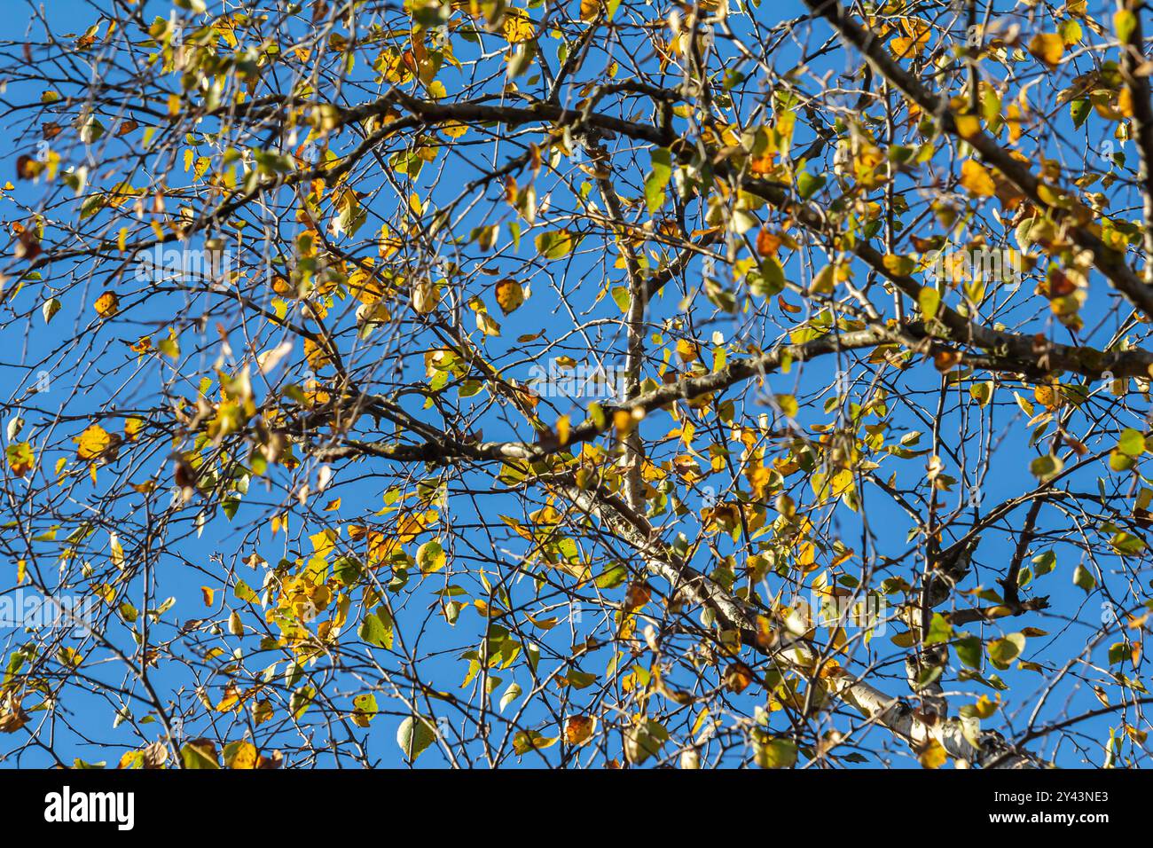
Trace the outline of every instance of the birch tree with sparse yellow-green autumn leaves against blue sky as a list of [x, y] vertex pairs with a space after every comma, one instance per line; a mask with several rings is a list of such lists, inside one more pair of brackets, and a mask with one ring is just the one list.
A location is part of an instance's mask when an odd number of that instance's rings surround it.
[[1143, 16], [30, 3], [0, 757], [1143, 765]]

